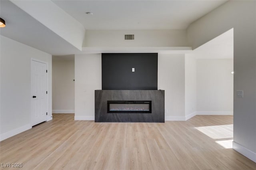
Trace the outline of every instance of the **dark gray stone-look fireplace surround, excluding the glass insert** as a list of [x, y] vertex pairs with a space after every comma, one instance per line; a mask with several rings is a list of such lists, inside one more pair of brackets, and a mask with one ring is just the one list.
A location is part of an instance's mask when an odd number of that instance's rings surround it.
[[[107, 101], [152, 101], [152, 113], [108, 113]], [[95, 90], [95, 122], [164, 123], [164, 90]]]

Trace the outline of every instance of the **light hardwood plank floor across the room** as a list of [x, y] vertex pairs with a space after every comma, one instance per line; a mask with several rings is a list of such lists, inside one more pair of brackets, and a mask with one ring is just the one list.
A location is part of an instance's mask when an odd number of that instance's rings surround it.
[[256, 170], [255, 162], [216, 142], [232, 137], [232, 124], [232, 116], [94, 123], [53, 114], [52, 121], [0, 142], [0, 163], [23, 163], [24, 170]]

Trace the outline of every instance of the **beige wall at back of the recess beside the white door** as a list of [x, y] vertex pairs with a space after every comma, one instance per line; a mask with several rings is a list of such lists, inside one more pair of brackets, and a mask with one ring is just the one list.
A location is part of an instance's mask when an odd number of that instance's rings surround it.
[[75, 60], [52, 58], [52, 113], [74, 113]]

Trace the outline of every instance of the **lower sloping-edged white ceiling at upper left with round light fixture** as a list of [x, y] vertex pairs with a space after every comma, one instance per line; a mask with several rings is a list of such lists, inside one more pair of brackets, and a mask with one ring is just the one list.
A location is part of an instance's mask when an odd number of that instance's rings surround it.
[[80, 52], [10, 1], [0, 0], [0, 14], [6, 21], [6, 27], [1, 28], [2, 36], [53, 55]]

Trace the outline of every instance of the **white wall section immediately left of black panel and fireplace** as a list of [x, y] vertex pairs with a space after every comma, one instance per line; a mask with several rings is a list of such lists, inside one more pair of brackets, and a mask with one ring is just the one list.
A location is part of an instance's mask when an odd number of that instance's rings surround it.
[[75, 120], [94, 120], [94, 90], [102, 89], [101, 54], [75, 55]]

